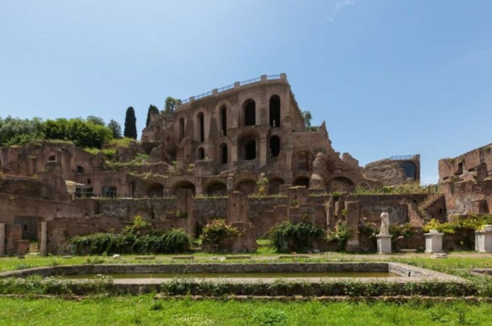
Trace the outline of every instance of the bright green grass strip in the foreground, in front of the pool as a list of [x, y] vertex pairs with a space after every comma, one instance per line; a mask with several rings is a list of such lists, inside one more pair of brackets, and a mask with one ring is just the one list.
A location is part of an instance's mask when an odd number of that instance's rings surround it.
[[440, 325], [490, 324], [492, 305], [153, 300], [138, 297], [0, 298], [0, 324]]

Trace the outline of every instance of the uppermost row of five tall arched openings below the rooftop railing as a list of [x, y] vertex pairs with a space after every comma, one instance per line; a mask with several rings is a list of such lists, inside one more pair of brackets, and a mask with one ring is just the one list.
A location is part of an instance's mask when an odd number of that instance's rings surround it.
[[[280, 127], [280, 96], [272, 95], [269, 100], [269, 122], [272, 128]], [[222, 136], [227, 135], [227, 107], [222, 105], [219, 108], [219, 126]], [[196, 115], [196, 125], [198, 126], [198, 141], [205, 141], [205, 118], [203, 112]], [[244, 100], [242, 104], [242, 123], [241, 126], [256, 125], [256, 102], [252, 98]], [[185, 137], [185, 118], [179, 118], [179, 140]]]

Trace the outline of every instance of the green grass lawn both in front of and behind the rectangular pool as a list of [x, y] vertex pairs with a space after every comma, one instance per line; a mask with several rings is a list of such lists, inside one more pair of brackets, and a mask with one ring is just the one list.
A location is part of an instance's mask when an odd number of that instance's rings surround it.
[[[264, 244], [263, 244], [264, 246]], [[466, 257], [463, 255], [466, 254]], [[392, 260], [415, 266], [451, 273], [484, 282], [492, 287], [490, 278], [472, 276], [470, 268], [488, 268], [492, 257], [487, 254], [452, 253], [446, 259], [431, 259], [428, 255], [312, 255], [311, 259], [276, 259], [278, 254], [263, 247], [253, 259], [256, 261], [367, 261]], [[212, 254], [195, 254], [195, 261], [211, 260]], [[221, 257], [222, 255], [216, 255]], [[80, 264], [88, 262], [124, 263], [170, 263], [172, 255], [157, 255], [156, 260], [136, 260], [133, 255], [119, 260], [103, 256], [61, 257], [26, 256], [0, 258], [0, 271], [24, 269], [58, 264]], [[183, 261], [178, 261], [183, 262]], [[223, 261], [228, 263], [229, 260]], [[432, 324], [492, 324], [492, 304], [453, 303], [320, 303], [310, 302], [237, 302], [237, 301], [193, 301], [153, 300], [153, 295], [89, 298], [81, 301], [64, 299], [31, 299], [0, 297], [0, 325], [22, 324], [173, 324], [173, 325], [432, 325]]]

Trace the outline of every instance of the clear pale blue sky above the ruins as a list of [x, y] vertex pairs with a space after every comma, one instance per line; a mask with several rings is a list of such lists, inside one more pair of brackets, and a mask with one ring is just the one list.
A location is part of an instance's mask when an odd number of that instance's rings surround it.
[[285, 72], [361, 165], [492, 141], [490, 1], [0, 0], [0, 116], [97, 115]]

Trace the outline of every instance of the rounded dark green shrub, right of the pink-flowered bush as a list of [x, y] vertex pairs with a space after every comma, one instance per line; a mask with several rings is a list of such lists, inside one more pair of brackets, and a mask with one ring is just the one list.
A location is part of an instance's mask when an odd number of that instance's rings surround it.
[[290, 221], [285, 221], [275, 225], [269, 232], [271, 246], [277, 252], [310, 250], [312, 241], [323, 236], [323, 229], [307, 222], [294, 224]]

